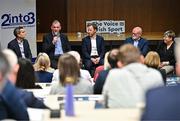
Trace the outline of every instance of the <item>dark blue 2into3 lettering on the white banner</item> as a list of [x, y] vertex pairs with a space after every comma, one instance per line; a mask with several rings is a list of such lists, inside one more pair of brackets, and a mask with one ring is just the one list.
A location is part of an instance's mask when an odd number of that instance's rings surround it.
[[1, 20], [1, 27], [8, 27], [14, 25], [32, 25], [35, 23], [35, 14], [33, 12], [29, 12], [25, 15], [20, 13], [18, 16], [13, 16], [11, 14], [3, 14], [1, 16]]

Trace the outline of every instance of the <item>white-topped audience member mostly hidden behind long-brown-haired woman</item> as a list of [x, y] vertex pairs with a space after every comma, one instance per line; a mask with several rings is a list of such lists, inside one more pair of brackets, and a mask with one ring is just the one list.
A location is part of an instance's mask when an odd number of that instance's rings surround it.
[[[69, 51], [68, 54], [74, 56], [79, 66], [81, 67], [81, 57], [79, 53], [77, 51]], [[53, 82], [59, 82], [59, 73], [61, 72], [59, 72], [59, 70], [56, 69], [55, 72], [53, 73], [53, 79], [52, 79]], [[89, 71], [80, 68], [80, 76], [81, 78], [93, 83]]]

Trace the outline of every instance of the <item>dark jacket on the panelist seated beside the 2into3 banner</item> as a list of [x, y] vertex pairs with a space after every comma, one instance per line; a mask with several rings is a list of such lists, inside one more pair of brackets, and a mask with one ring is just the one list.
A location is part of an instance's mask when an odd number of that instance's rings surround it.
[[[31, 60], [32, 59], [31, 49], [26, 39], [23, 40], [23, 46], [24, 46], [25, 57]], [[8, 48], [13, 50], [18, 58], [22, 57], [17, 39], [13, 39], [12, 41], [10, 41], [8, 43]]]

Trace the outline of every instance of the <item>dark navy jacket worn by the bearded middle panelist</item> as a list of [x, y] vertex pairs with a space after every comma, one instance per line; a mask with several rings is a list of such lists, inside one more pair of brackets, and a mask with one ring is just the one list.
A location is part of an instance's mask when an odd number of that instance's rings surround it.
[[[104, 59], [104, 38], [101, 36], [96, 36], [96, 46], [98, 55], [101, 59]], [[91, 39], [89, 36], [82, 39], [82, 54], [83, 59], [91, 59]]]

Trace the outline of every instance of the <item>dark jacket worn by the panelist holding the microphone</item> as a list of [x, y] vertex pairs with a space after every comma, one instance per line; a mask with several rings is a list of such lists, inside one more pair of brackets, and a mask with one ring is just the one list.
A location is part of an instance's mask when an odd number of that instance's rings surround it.
[[[60, 34], [61, 44], [63, 52], [68, 52], [71, 50], [70, 43], [68, 41], [68, 38], [64, 34]], [[53, 40], [53, 34], [48, 33], [47, 35], [43, 36], [43, 51], [49, 55], [50, 58], [54, 58], [54, 51], [55, 51], [55, 45], [52, 43]]]

